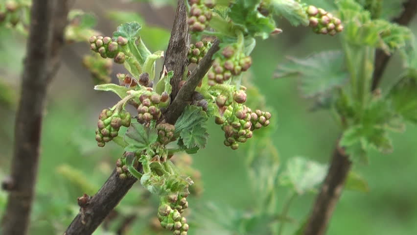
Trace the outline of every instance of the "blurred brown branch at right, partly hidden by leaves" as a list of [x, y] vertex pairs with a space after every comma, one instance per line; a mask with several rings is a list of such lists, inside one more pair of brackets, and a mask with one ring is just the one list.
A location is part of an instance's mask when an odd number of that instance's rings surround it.
[[[404, 12], [394, 22], [402, 25], [408, 24], [417, 12], [417, 1], [409, 0], [404, 3]], [[378, 87], [390, 56], [377, 50], [375, 55], [375, 69], [372, 80], [372, 91]], [[304, 235], [324, 235], [330, 221], [331, 215], [339, 200], [351, 162], [349, 156], [340, 147], [339, 142], [333, 153], [330, 168], [327, 172], [320, 193], [311, 211], [309, 220], [304, 229]]]

